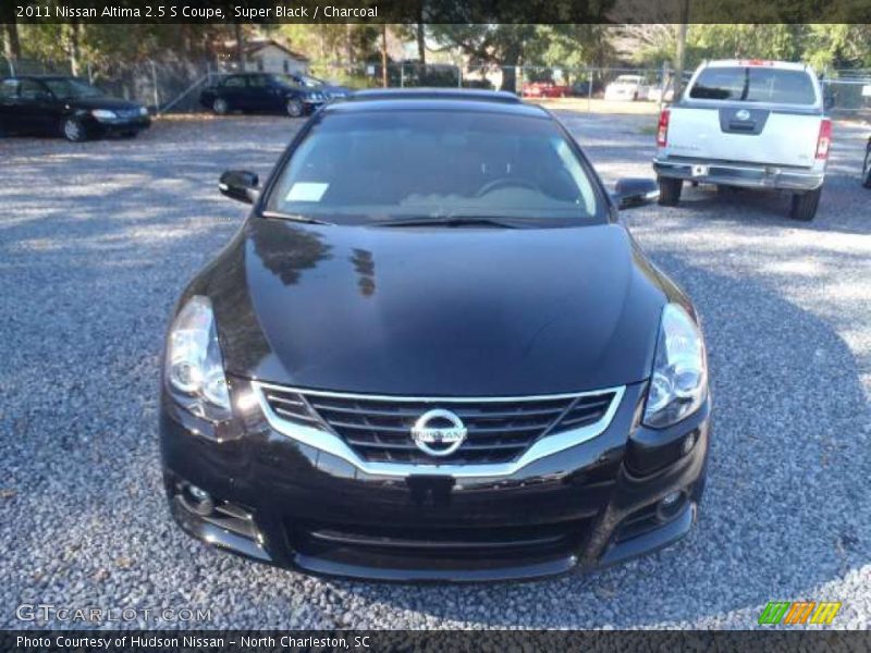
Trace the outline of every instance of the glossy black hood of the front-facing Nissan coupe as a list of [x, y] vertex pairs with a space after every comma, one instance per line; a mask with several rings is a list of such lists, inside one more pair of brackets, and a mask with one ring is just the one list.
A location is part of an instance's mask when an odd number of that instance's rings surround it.
[[228, 372], [360, 393], [524, 395], [641, 381], [666, 300], [616, 224], [253, 217], [205, 279]]

